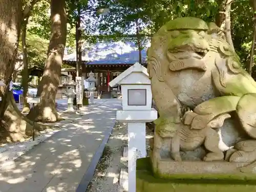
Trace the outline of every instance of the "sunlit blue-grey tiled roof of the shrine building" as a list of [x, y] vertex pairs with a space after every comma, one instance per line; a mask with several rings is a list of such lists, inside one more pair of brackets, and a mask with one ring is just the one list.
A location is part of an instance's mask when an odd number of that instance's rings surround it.
[[[148, 43], [145, 47], [149, 47]], [[141, 51], [142, 63], [146, 63], [146, 49]], [[63, 60], [75, 61], [76, 53], [65, 55]], [[139, 51], [135, 42], [98, 42], [90, 50], [82, 51], [82, 61], [89, 65], [118, 65], [139, 62]]]

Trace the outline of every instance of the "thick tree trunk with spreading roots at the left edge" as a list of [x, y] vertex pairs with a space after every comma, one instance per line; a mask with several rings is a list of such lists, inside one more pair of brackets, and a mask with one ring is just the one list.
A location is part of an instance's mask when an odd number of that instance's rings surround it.
[[[18, 49], [20, 24], [22, 22], [22, 0], [2, 0], [0, 2], [0, 80], [7, 86], [1, 89], [0, 96], [0, 131], [1, 139], [22, 140], [31, 135], [32, 122], [17, 109], [9, 83], [15, 66]], [[44, 129], [36, 124], [35, 129]], [[3, 138], [5, 137], [5, 138]]]

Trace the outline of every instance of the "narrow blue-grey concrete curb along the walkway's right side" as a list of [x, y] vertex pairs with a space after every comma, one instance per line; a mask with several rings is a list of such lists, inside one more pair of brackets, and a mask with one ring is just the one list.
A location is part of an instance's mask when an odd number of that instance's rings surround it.
[[113, 132], [115, 122], [116, 122], [116, 120], [114, 121], [113, 126], [111, 126], [108, 130], [105, 131], [104, 139], [103, 139], [102, 143], [99, 145], [98, 150], [94, 154], [94, 156], [93, 156], [93, 158], [92, 158], [92, 160], [91, 160], [91, 162], [90, 162], [90, 164], [89, 164], [89, 166], [86, 170], [86, 173], [82, 177], [82, 180], [78, 184], [78, 186], [76, 188], [76, 192], [86, 192], [87, 191], [87, 188], [88, 188], [90, 182], [93, 179], [95, 169], [96, 169], [96, 167], [99, 163], [99, 160], [100, 160], [100, 158], [103, 154], [106, 143], [108, 143], [109, 138], [110, 138], [110, 136]]

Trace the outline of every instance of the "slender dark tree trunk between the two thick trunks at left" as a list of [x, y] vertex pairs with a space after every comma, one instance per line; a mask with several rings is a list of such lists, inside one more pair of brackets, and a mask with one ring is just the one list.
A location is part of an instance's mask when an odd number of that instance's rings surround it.
[[28, 24], [29, 17], [26, 17], [22, 26], [22, 48], [23, 48], [23, 71], [22, 71], [22, 86], [23, 86], [23, 113], [28, 113], [29, 103], [27, 102], [27, 94], [28, 94], [28, 50], [26, 44], [26, 37], [27, 37], [27, 24]]

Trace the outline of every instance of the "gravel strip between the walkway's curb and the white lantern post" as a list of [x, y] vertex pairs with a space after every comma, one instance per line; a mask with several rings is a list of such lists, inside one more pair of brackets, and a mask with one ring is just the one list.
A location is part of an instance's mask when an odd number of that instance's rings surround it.
[[[146, 147], [148, 149], [148, 141], [153, 137], [153, 132], [148, 129], [146, 132]], [[119, 185], [119, 174], [121, 168], [127, 168], [127, 161], [122, 158], [123, 147], [127, 146], [127, 141], [127, 124], [117, 121], [87, 192], [124, 191], [123, 187]]]

